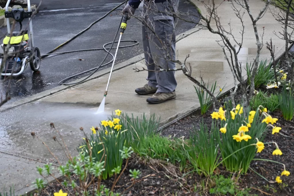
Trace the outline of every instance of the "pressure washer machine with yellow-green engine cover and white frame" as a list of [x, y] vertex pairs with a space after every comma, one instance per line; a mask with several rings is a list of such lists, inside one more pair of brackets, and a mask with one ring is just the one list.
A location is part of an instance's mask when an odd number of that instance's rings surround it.
[[[33, 27], [32, 27], [32, 15], [33, 11], [31, 10], [30, 0], [27, 0], [28, 11], [24, 9], [12, 9], [8, 11], [8, 6], [11, 0], [8, 0], [5, 7], [5, 18], [7, 22], [7, 32], [8, 34], [1, 44], [3, 48], [2, 56], [0, 57], [0, 64], [4, 60], [5, 55], [8, 57], [3, 65], [2, 76], [19, 76], [30, 64], [32, 71], [38, 71], [41, 65], [41, 53], [39, 48], [34, 47], [34, 37], [33, 37]], [[13, 18], [16, 22], [20, 24], [20, 30], [10, 31], [10, 22], [9, 18]], [[29, 31], [22, 29], [21, 22], [29, 18]], [[29, 47], [30, 41], [30, 47]]]

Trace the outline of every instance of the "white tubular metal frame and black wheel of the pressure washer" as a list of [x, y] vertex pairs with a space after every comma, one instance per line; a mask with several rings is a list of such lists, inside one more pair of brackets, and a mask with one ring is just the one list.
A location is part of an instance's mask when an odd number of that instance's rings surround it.
[[[18, 73], [13, 73], [13, 70], [11, 73], [1, 73], [2, 76], [19, 76], [23, 73], [24, 69], [27, 67], [27, 63], [30, 63], [31, 69], [33, 71], [39, 70], [40, 64], [41, 64], [41, 53], [39, 48], [34, 47], [34, 34], [33, 34], [33, 26], [32, 26], [32, 17], [33, 13], [31, 11], [31, 2], [30, 0], [27, 0], [28, 5], [28, 11], [24, 11], [24, 9], [12, 9], [11, 12], [9, 12], [8, 7], [11, 0], [8, 0], [5, 6], [5, 18], [7, 23], [7, 32], [10, 33], [10, 22], [9, 18], [14, 18], [16, 21], [21, 22], [24, 18], [29, 18], [29, 40], [30, 41], [30, 47], [28, 44], [28, 51], [22, 55], [19, 56], [21, 58], [21, 70]], [[15, 15], [14, 15], [15, 14]], [[21, 25], [22, 27], [22, 25]], [[9, 44], [10, 44], [9, 40]], [[29, 59], [28, 59], [29, 58]], [[2, 64], [3, 56], [0, 58], [0, 65]], [[33, 65], [34, 64], [34, 65]]]

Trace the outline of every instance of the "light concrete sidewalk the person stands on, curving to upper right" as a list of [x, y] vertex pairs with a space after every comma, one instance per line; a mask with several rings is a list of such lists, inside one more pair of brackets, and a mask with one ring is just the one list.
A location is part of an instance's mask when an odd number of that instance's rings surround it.
[[[205, 8], [199, 1], [191, 1], [199, 7], [203, 15], [206, 15]], [[218, 1], [222, 2], [222, 0]], [[258, 14], [264, 4], [260, 0], [250, 1], [254, 16]], [[271, 6], [271, 8], [273, 7]], [[223, 2], [218, 9], [218, 14], [221, 15], [223, 24], [227, 24], [231, 20], [235, 36], [240, 38], [238, 33], [240, 24], [233, 15], [230, 2]], [[253, 61], [256, 53], [256, 40], [247, 13], [244, 16], [244, 23], [246, 26], [245, 39], [242, 52], [239, 55], [239, 61], [242, 62], [243, 67], [246, 62]], [[273, 44], [278, 51], [276, 56], [282, 54], [284, 42], [272, 33], [278, 31], [280, 25], [277, 24], [269, 10], [257, 26], [259, 33], [262, 33], [263, 27], [266, 29], [264, 42], [269, 41], [271, 37], [273, 38]], [[196, 29], [197, 27], [193, 30]], [[225, 90], [228, 90], [234, 86], [232, 73], [216, 39], [219, 39], [219, 36], [208, 31], [201, 30], [192, 33], [177, 42], [177, 55], [179, 60], [183, 61], [186, 55], [190, 54], [187, 62], [191, 63], [193, 76], [199, 78], [200, 73], [204, 74], [205, 81], [209, 80], [210, 83], [217, 81], [220, 86], [226, 84]], [[269, 57], [269, 52], [264, 46], [260, 60]], [[140, 59], [140, 57], [136, 59]], [[116, 109], [134, 115], [155, 113], [161, 117], [163, 123], [167, 123], [200, 106], [193, 87], [194, 84], [181, 71], [176, 72], [178, 87], [175, 100], [159, 105], [147, 104], [147, 96], [138, 96], [134, 92], [135, 88], [146, 83], [147, 72], [135, 73], [133, 71], [135, 67], [145, 66], [144, 61], [141, 60], [129, 66], [127, 64], [121, 64], [121, 69], [113, 72], [106, 97], [107, 114], [111, 114]], [[0, 190], [4, 186], [14, 185], [18, 193], [24, 193], [30, 189], [30, 183], [36, 177], [40, 177], [34, 171], [35, 166], [46, 162], [56, 164], [48, 150], [42, 145], [41, 140], [45, 141], [61, 160], [66, 160], [62, 149], [52, 139], [56, 132], [50, 129], [49, 123], [54, 122], [71, 152], [75, 153], [83, 136], [79, 127], [84, 127], [84, 130], [90, 133], [90, 127], [97, 126], [100, 120], [107, 118], [107, 116], [93, 115], [103, 98], [108, 79], [106, 73], [110, 70], [103, 71], [105, 75], [101, 77], [0, 113]], [[244, 69], [242, 71], [244, 74], [246, 73]], [[32, 139], [31, 131], [35, 131], [40, 140]], [[24, 169], [17, 169], [18, 166]], [[17, 175], [18, 172], [21, 175]]]

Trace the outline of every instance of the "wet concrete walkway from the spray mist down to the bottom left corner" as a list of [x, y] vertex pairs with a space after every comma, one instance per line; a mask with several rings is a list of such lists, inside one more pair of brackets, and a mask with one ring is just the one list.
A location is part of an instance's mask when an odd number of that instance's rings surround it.
[[[63, 148], [59, 145], [64, 139], [72, 154], [82, 143], [84, 128], [90, 134], [92, 126], [99, 126], [111, 113], [95, 114], [97, 108], [87, 104], [52, 104], [36, 102], [14, 108], [10, 112], [0, 113], [0, 188], [13, 186], [16, 193], [24, 193], [31, 189], [36, 177], [36, 166], [45, 163], [58, 165], [49, 150], [61, 163], [67, 161]], [[50, 127], [54, 122], [56, 130]], [[31, 132], [35, 133], [35, 138]], [[58, 142], [53, 140], [56, 136]], [[64, 148], [65, 149], [65, 148]], [[16, 177], [17, 176], [17, 177]], [[58, 174], [56, 173], [56, 176]]]

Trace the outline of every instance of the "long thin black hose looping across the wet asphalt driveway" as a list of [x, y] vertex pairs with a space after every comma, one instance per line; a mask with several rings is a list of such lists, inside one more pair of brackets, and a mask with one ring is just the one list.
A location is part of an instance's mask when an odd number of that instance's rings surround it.
[[[74, 40], [76, 37], [78, 37], [79, 35], [83, 34], [85, 31], [87, 31], [88, 29], [91, 28], [91, 26], [93, 26], [94, 24], [96, 24], [97, 22], [99, 22], [100, 20], [104, 19], [108, 14], [110, 14], [111, 12], [113, 12], [114, 10], [116, 10], [118, 7], [120, 7], [121, 5], [123, 5], [124, 3], [126, 3], [126, 1], [124, 1], [123, 3], [119, 4], [118, 6], [116, 6], [115, 8], [113, 8], [111, 11], [107, 12], [104, 16], [102, 16], [101, 18], [99, 18], [98, 20], [94, 21], [93, 23], [91, 23], [86, 29], [84, 29], [83, 31], [79, 32], [78, 34], [76, 34], [74, 37], [70, 38], [68, 41], [62, 43], [61, 45], [57, 46], [56, 48], [54, 48], [53, 50], [49, 51], [48, 53], [44, 54], [44, 55], [41, 55], [41, 58], [45, 58], [46, 56], [49, 56], [49, 55], [56, 55], [56, 54], [65, 54], [65, 53], [71, 53], [71, 52], [80, 52], [80, 51], [91, 51], [91, 50], [105, 50], [107, 52], [106, 56], [104, 57], [103, 61], [100, 63], [100, 65], [98, 67], [95, 67], [95, 68], [92, 68], [92, 69], [89, 69], [87, 71], [83, 71], [81, 73], [78, 73], [78, 74], [75, 74], [73, 76], [70, 76], [70, 77], [67, 77], [61, 81], [58, 82], [58, 84], [64, 84], [64, 85], [75, 85], [75, 84], [79, 84], [79, 83], [82, 83], [83, 81], [85, 81], [86, 79], [90, 78], [94, 73], [96, 73], [96, 71], [98, 71], [98, 69], [100, 67], [103, 67], [103, 66], [106, 66], [108, 65], [109, 63], [113, 62], [114, 60], [114, 56], [113, 54], [110, 53], [112, 47], [113, 47], [113, 44], [118, 42], [118, 41], [115, 41], [116, 40], [116, 37], [117, 37], [117, 34], [118, 34], [118, 31], [120, 30], [120, 25], [121, 25], [121, 22], [123, 20], [123, 16], [121, 18], [121, 21], [119, 23], [119, 26], [118, 26], [118, 29], [116, 31], [116, 34], [114, 36], [114, 39], [112, 42], [109, 42], [109, 43], [106, 43], [103, 45], [103, 48], [93, 48], [93, 49], [84, 49], [84, 50], [74, 50], [74, 51], [66, 51], [66, 52], [59, 52], [59, 53], [52, 53], [54, 51], [56, 51], [57, 49], [59, 49], [61, 46], [64, 46], [66, 45], [67, 43], [69, 43], [70, 41]], [[132, 45], [127, 45], [127, 46], [119, 46], [118, 48], [126, 48], [126, 47], [131, 47], [131, 46], [135, 46], [137, 45], [139, 42], [137, 40], [122, 40], [121, 42], [135, 42], [134, 44]], [[111, 43], [111, 46], [109, 48], [105, 48], [106, 45], [110, 44]], [[108, 49], [108, 50], [107, 50]], [[107, 56], [108, 55], [111, 55], [112, 56], [112, 60], [109, 61], [108, 63], [104, 63], [104, 61], [106, 60]], [[74, 82], [74, 83], [64, 83], [64, 81], [66, 80], [69, 80], [70, 78], [74, 78], [78, 75], [81, 75], [83, 73], [87, 73], [89, 71], [92, 71], [94, 70], [89, 76], [87, 76], [86, 78], [84, 78], [83, 80], [79, 81], [79, 82]]]

